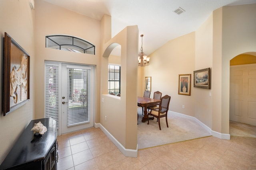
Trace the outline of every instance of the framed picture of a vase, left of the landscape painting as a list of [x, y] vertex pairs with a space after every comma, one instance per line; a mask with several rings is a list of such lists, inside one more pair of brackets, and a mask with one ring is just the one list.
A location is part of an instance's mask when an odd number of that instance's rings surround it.
[[191, 74], [179, 74], [178, 94], [190, 96]]

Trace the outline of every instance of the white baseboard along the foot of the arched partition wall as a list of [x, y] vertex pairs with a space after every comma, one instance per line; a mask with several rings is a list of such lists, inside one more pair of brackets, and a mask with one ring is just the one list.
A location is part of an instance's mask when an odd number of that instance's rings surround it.
[[100, 129], [103, 131], [103, 133], [105, 133], [105, 135], [114, 143], [114, 145], [116, 145], [116, 147], [122, 152], [122, 154], [124, 154], [124, 156], [129, 156], [129, 157], [137, 158], [137, 155], [138, 155], [138, 144], [137, 144], [136, 150], [134, 150], [134, 149], [126, 149], [100, 123], [94, 123], [94, 127], [95, 128], [100, 127]]

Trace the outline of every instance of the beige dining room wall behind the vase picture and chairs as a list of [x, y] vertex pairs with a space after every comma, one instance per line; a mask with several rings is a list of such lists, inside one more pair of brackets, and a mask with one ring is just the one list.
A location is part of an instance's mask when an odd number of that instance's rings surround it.
[[[145, 51], [146, 52], [146, 51]], [[155, 91], [162, 92], [162, 96], [171, 96], [169, 110], [195, 116], [194, 88], [191, 84], [191, 96], [178, 94], [179, 74], [191, 74], [195, 68], [195, 32], [173, 39], [154, 51], [150, 56], [150, 65], [144, 67], [144, 75], [139, 74], [138, 80], [143, 88], [138, 94], [142, 94], [145, 86], [145, 77], [151, 76], [151, 95]], [[185, 109], [182, 109], [185, 105]]]

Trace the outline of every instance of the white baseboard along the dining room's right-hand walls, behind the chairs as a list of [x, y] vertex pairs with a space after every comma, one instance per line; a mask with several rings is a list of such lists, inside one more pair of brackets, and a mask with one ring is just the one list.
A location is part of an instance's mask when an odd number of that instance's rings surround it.
[[189, 116], [189, 115], [184, 115], [182, 113], [177, 113], [177, 112], [170, 111], [170, 110], [168, 111], [168, 113], [171, 113], [171, 114], [179, 116], [179, 117], [185, 117], [187, 119], [196, 121], [201, 127], [203, 127], [206, 131], [208, 131], [212, 136], [218, 137], [220, 139], [228, 139], [228, 140], [230, 140], [230, 134], [219, 133], [219, 132], [213, 131], [210, 127], [206, 126], [204, 123], [202, 123], [196, 117]]

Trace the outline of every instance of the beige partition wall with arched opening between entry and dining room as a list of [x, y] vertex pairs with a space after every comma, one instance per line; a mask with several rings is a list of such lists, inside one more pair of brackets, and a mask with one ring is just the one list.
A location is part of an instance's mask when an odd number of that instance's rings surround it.
[[[117, 45], [121, 45], [121, 97], [108, 94], [108, 57]], [[133, 56], [138, 51], [137, 25], [123, 29], [102, 50], [100, 123], [125, 149], [136, 150], [138, 66]]]

